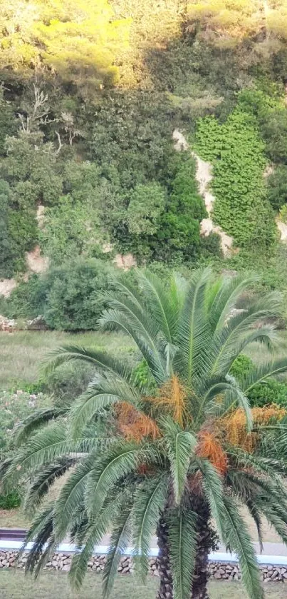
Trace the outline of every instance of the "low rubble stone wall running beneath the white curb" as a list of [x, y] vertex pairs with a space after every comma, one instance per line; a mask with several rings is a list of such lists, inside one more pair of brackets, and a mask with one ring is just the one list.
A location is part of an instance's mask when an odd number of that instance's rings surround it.
[[[16, 563], [16, 551], [0, 550], [0, 568], [14, 568]], [[24, 568], [27, 560], [27, 553], [24, 553], [17, 568]], [[70, 570], [72, 555], [70, 553], [54, 553], [50, 561], [46, 565], [46, 570]], [[105, 565], [105, 555], [93, 555], [88, 562], [88, 571], [101, 572]], [[287, 583], [287, 566], [282, 568], [276, 565], [261, 565], [261, 578], [264, 583], [282, 582]], [[130, 574], [133, 570], [132, 558], [122, 557], [118, 572], [122, 574]], [[150, 573], [154, 576], [159, 576], [157, 558], [150, 559]], [[239, 565], [234, 563], [210, 562], [209, 573], [211, 578], [216, 580], [241, 580]]]

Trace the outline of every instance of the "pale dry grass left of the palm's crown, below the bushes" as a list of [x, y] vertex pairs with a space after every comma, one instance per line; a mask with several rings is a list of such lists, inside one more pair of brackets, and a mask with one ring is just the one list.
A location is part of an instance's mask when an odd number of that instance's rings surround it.
[[61, 333], [60, 331], [19, 331], [0, 333], [0, 389], [16, 383], [35, 383], [48, 352], [63, 345], [97, 347], [122, 357], [133, 352], [132, 341], [120, 333]]

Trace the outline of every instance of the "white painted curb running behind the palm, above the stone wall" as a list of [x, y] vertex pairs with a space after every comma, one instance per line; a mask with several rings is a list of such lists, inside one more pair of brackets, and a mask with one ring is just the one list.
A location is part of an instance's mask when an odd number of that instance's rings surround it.
[[[22, 547], [20, 540], [0, 540], [0, 550], [19, 550]], [[31, 550], [33, 543], [28, 543], [26, 550]], [[58, 553], [75, 553], [75, 545], [70, 543], [61, 543], [58, 545]], [[95, 555], [106, 555], [108, 553], [108, 545], [96, 545], [93, 553]], [[122, 555], [132, 555], [133, 548], [127, 547]], [[156, 558], [158, 555], [158, 548], [150, 549], [150, 557]], [[287, 566], [287, 555], [256, 555], [259, 564], [266, 565], [286, 565]], [[224, 553], [221, 551], [214, 551], [209, 553], [209, 561], [212, 562], [229, 562], [238, 563], [236, 553]]]

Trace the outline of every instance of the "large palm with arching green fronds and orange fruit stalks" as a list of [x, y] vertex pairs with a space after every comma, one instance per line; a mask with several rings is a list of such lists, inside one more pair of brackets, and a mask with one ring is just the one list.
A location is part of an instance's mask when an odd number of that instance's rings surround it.
[[[20, 429], [6, 480], [31, 478], [26, 510], [36, 514], [26, 568], [36, 573], [67, 535], [78, 549], [70, 577], [80, 587], [94, 545], [110, 533], [103, 573], [108, 595], [127, 544], [145, 576], [157, 533], [159, 599], [207, 599], [207, 562], [217, 535], [239, 557], [252, 599], [263, 597], [246, 506], [261, 541], [264, 516], [287, 542], [286, 411], [249, 407], [259, 381], [287, 370], [273, 359], [231, 375], [236, 358], [253, 343], [272, 351], [280, 342], [281, 298], [249, 295], [254, 278], [217, 278], [209, 269], [190, 281], [172, 276], [164, 286], [150, 273], [115, 281], [100, 318], [105, 331], [125, 331], [142, 362], [125, 363], [78, 347], [58, 350], [52, 366], [93, 363], [95, 378], [64, 413], [41, 413]], [[67, 475], [67, 470], [69, 474]], [[56, 500], [46, 495], [66, 474]], [[68, 478], [67, 478], [68, 476]], [[41, 508], [41, 504], [42, 508]], [[25, 545], [24, 545], [25, 546]]]

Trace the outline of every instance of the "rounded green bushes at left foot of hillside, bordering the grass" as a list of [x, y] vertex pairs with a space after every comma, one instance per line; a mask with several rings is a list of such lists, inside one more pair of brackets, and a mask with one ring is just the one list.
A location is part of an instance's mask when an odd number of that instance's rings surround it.
[[103, 310], [100, 292], [109, 288], [113, 267], [96, 258], [77, 258], [54, 266], [42, 276], [33, 275], [1, 301], [9, 318], [35, 318], [43, 314], [58, 331], [93, 330]]

